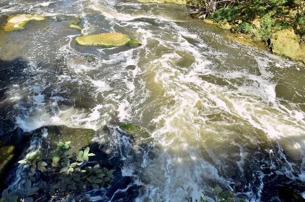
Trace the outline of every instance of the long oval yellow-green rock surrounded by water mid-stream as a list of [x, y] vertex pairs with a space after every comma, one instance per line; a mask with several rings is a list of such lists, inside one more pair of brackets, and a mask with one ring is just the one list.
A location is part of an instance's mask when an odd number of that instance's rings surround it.
[[100, 35], [81, 36], [77, 37], [75, 41], [81, 46], [100, 46], [104, 48], [141, 45], [122, 33], [101, 33]]

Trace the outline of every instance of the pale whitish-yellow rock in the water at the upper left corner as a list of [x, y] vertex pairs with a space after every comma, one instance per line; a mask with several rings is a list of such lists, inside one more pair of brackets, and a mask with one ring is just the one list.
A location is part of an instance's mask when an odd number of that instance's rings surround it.
[[29, 15], [29, 14], [22, 14], [22, 15], [11, 15], [7, 19], [7, 23], [2, 26], [5, 31], [14, 31], [17, 29], [24, 29], [24, 25], [33, 20], [45, 20], [46, 18], [40, 15]]

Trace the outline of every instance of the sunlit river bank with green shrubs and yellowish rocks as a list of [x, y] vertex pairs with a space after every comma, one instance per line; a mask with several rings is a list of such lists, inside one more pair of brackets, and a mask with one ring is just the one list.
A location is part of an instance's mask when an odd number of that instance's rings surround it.
[[[294, 60], [303, 60], [305, 63], [304, 1], [189, 0], [187, 5], [197, 8], [200, 11], [201, 19], [210, 19], [219, 24], [229, 24], [233, 32], [244, 33], [250, 35], [254, 40], [266, 42], [271, 51], [274, 49], [272, 44], [280, 39], [280, 33], [291, 31], [294, 33], [291, 36], [295, 44], [285, 47], [287, 50], [284, 52], [283, 50], [275, 52]], [[281, 43], [285, 46], [284, 42]]]

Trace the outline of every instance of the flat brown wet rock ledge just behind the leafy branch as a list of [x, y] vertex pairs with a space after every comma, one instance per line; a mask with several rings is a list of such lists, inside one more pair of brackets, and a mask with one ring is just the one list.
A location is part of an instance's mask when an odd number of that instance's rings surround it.
[[[71, 128], [65, 125], [52, 125], [45, 126], [40, 128], [39, 130], [47, 129], [50, 144], [46, 145], [45, 141], [43, 142], [42, 154], [49, 156], [50, 151], [54, 151], [57, 149], [58, 142], [68, 142], [70, 141], [70, 146], [72, 147], [70, 150], [70, 154], [77, 153], [83, 147], [87, 147], [92, 143], [92, 139], [95, 136], [95, 130], [86, 129], [86, 128]], [[50, 146], [50, 149], [49, 149]]]

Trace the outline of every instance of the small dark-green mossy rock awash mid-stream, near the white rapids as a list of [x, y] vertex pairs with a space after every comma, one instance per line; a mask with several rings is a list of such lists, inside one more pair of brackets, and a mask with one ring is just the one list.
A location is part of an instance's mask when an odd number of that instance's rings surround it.
[[127, 123], [121, 125], [120, 129], [126, 132], [128, 136], [139, 145], [149, 144], [153, 141], [150, 134], [139, 126]]

